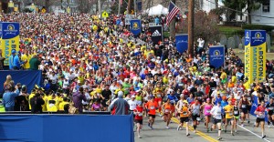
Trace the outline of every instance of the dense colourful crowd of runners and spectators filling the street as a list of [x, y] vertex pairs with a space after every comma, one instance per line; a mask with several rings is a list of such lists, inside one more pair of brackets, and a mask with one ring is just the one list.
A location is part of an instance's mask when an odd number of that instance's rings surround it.
[[171, 118], [178, 117], [177, 130], [185, 124], [186, 136], [190, 120], [195, 132], [205, 122], [207, 132], [217, 129], [222, 139], [222, 129], [227, 133], [231, 126], [234, 136], [237, 124], [249, 124], [253, 96], [258, 96], [254, 125], [260, 125], [262, 138], [266, 137], [265, 117], [269, 126], [274, 124], [273, 61], [267, 62], [265, 81], [249, 86], [244, 64], [232, 49], [226, 51], [225, 65], [216, 69], [209, 64], [209, 45], [203, 39], [196, 42], [195, 56], [180, 54], [172, 37], [153, 43], [148, 28], [152, 21], [138, 18], [142, 34], [135, 37], [123, 15], [103, 20], [88, 14], [2, 15], [2, 21], [21, 25], [20, 50], [12, 52], [20, 60], [10, 69], [42, 70], [44, 86], [28, 94], [27, 86], [6, 76], [1, 110], [68, 112], [73, 102], [80, 113], [108, 111], [122, 96], [134, 113], [138, 137], [143, 118], [148, 117], [153, 129], [155, 117], [160, 116], [167, 129]]

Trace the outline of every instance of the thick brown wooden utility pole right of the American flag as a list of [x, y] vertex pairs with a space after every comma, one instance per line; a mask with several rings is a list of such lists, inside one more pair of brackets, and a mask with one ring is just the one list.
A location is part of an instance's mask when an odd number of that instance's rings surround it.
[[189, 0], [188, 5], [188, 54], [194, 56], [194, 17], [195, 0]]

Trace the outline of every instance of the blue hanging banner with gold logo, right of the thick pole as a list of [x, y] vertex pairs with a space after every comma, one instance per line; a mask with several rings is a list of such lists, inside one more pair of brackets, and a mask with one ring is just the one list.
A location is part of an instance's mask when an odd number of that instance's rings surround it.
[[225, 46], [210, 46], [209, 47], [209, 63], [210, 66], [216, 68], [223, 66], [225, 63]]

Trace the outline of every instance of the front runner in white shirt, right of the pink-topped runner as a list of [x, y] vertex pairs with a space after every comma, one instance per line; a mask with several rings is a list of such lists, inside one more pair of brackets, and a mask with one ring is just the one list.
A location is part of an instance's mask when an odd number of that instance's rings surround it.
[[217, 102], [216, 106], [213, 106], [213, 108], [210, 111], [210, 114], [213, 117], [213, 126], [210, 127], [210, 130], [216, 129], [216, 126], [218, 128], [218, 140], [221, 140], [221, 126], [222, 126], [222, 106], [221, 102]]

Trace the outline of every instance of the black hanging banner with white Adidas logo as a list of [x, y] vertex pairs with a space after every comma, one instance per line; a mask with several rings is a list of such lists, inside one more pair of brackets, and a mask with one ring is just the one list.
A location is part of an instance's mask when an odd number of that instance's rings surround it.
[[150, 33], [152, 35], [153, 43], [159, 45], [163, 41], [163, 27], [162, 25], [153, 25], [150, 26]]

